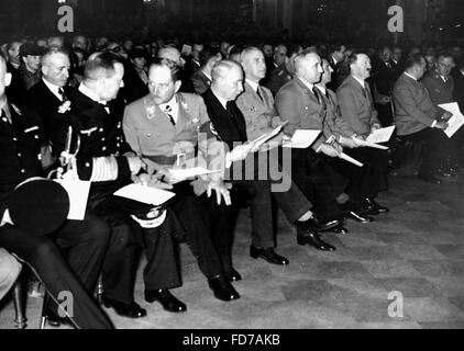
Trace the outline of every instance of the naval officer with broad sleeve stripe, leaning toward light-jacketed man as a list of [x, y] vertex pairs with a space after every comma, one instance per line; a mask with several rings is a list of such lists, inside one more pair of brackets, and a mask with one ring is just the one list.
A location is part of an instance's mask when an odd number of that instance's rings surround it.
[[[80, 138], [80, 150], [76, 156], [77, 173], [79, 179], [91, 181], [87, 207], [102, 217], [112, 229], [102, 270], [103, 303], [123, 317], [141, 318], [146, 316], [146, 310], [133, 296], [140, 247], [146, 248], [147, 253], [145, 288], [157, 292], [157, 298], [163, 299], [167, 295], [170, 302], [174, 301], [168, 292], [159, 293], [158, 290], [166, 287], [166, 281], [175, 284], [178, 276], [174, 259], [165, 262], [163, 278], [147, 274], [159, 270], [154, 256], [162, 254], [148, 246], [154, 240], [153, 233], [142, 230], [131, 218], [131, 213], [124, 211], [118, 197], [113, 196], [115, 191], [132, 183], [143, 166], [122, 133], [124, 103], [118, 93], [123, 86], [123, 76], [124, 66], [117, 56], [111, 53], [93, 54], [85, 65], [81, 84], [69, 92], [70, 110], [52, 117], [51, 137], [56, 156], [65, 149], [69, 126], [74, 132], [73, 149], [77, 138]], [[172, 219], [168, 215], [165, 225], [169, 226]], [[156, 240], [164, 242], [164, 252], [167, 253], [163, 253], [168, 258], [170, 231], [159, 229], [156, 237]], [[183, 307], [181, 303], [174, 302], [175, 307]]]

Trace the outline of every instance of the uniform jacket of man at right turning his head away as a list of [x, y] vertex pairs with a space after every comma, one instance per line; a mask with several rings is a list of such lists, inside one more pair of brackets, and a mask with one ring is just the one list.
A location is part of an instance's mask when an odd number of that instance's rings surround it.
[[443, 114], [430, 99], [426, 87], [401, 75], [394, 88], [395, 124], [398, 135], [409, 135], [432, 126]]

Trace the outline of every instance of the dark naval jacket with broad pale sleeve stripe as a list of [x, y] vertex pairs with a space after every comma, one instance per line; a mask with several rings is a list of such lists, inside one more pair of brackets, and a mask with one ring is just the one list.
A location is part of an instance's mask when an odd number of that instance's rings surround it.
[[68, 126], [73, 126], [71, 151], [76, 148], [77, 136], [80, 137], [79, 178], [92, 181], [91, 193], [110, 194], [129, 183], [131, 178], [128, 159], [123, 156], [131, 151], [122, 133], [124, 102], [121, 99], [111, 101], [108, 113], [103, 104], [77, 89], [68, 98], [70, 111], [56, 113], [51, 120], [53, 152], [59, 156], [65, 149]]

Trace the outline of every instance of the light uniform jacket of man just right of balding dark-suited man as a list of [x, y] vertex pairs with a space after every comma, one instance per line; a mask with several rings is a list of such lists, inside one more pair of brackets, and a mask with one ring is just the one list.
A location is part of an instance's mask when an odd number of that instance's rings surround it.
[[[277, 116], [270, 90], [261, 86], [258, 86], [258, 89], [263, 100], [247, 82], [244, 83], [244, 91], [236, 99], [236, 105], [245, 118], [246, 135], [250, 140], [269, 133], [273, 126], [273, 118]], [[280, 118], [278, 120], [280, 121]]]

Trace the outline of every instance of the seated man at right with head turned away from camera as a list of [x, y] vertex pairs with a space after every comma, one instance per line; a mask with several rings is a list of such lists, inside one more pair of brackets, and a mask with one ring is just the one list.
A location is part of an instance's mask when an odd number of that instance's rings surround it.
[[423, 143], [419, 178], [439, 184], [441, 181], [437, 176], [443, 157], [442, 145], [448, 139], [442, 131], [448, 127], [445, 121], [451, 113], [438, 107], [419, 81], [426, 66], [423, 56], [412, 55], [395, 83], [395, 125], [402, 139]]

